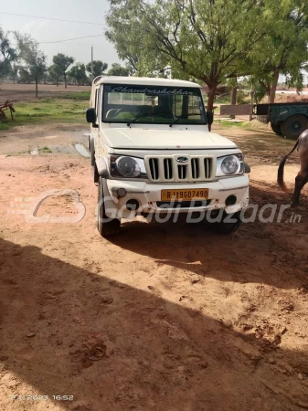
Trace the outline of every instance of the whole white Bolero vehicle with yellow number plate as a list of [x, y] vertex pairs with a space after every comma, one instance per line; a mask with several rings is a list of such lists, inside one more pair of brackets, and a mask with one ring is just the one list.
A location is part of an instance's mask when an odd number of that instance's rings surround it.
[[121, 218], [136, 215], [198, 212], [218, 232], [239, 227], [250, 169], [234, 142], [210, 132], [213, 113], [205, 111], [198, 84], [99, 77], [90, 107], [101, 236], [118, 234]]

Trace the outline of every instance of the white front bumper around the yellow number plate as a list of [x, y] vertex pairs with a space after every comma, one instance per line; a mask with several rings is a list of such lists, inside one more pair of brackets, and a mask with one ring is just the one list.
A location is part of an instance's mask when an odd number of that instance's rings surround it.
[[[223, 178], [216, 182], [200, 184], [147, 184], [139, 181], [104, 180], [104, 205], [106, 215], [110, 218], [133, 218], [137, 214], [148, 213], [189, 213], [192, 211], [215, 210], [224, 208], [226, 213], [236, 213], [249, 205], [249, 175]], [[124, 197], [119, 197], [119, 188], [126, 190]], [[208, 189], [207, 205], [181, 206], [161, 208], [156, 203], [161, 202], [161, 190], [164, 189]], [[229, 195], [235, 195], [234, 205], [226, 205]], [[135, 211], [126, 208], [130, 199], [137, 200], [140, 207]]]

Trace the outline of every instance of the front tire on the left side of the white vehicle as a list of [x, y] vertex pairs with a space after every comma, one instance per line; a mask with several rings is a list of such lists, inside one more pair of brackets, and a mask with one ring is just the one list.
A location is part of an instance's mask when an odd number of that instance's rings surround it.
[[[117, 218], [110, 219], [106, 216], [103, 193], [103, 178], [99, 178], [98, 187], [98, 210], [97, 210], [97, 227], [101, 237], [117, 236], [120, 232], [121, 221]], [[103, 221], [108, 219], [108, 221]]]

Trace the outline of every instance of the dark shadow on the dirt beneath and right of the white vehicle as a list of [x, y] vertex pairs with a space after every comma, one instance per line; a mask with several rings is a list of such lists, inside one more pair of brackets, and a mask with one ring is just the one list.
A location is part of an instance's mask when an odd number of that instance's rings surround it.
[[[155, 221], [155, 217], [146, 226], [124, 222], [121, 236], [112, 237], [111, 241], [120, 248], [205, 278], [308, 289], [304, 274], [306, 251], [297, 247], [297, 241], [308, 229], [307, 197], [303, 196], [302, 207], [290, 206], [283, 212], [281, 222], [277, 221], [281, 205], [288, 205], [290, 198], [275, 192], [269, 184], [250, 187], [250, 205], [258, 207], [256, 220], [242, 224], [237, 233], [229, 236], [213, 233], [203, 221], [186, 223], [186, 216], [180, 215], [176, 223], [173, 216], [164, 224]], [[260, 212], [266, 205], [269, 208]], [[275, 205], [273, 222], [260, 221], [258, 216], [263, 221], [270, 218], [271, 206]], [[250, 209], [245, 216], [252, 214]], [[300, 222], [294, 216], [300, 216]], [[294, 222], [289, 223], [292, 218]]]

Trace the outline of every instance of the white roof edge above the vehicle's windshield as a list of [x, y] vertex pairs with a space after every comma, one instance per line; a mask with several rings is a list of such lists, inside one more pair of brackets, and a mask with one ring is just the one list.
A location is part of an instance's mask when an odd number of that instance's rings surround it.
[[180, 80], [180, 79], [161, 79], [151, 77], [124, 77], [124, 76], [99, 76], [94, 79], [93, 84], [95, 86], [99, 84], [131, 84], [136, 86], [169, 86], [169, 87], [194, 87], [201, 88], [197, 83], [192, 81]]

